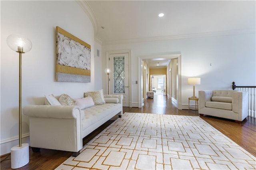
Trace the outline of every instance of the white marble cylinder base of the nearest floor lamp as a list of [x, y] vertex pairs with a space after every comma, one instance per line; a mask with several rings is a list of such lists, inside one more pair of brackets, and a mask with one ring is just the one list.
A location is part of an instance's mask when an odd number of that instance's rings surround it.
[[11, 148], [11, 167], [12, 169], [17, 169], [25, 166], [29, 162], [29, 147], [28, 143], [22, 143], [21, 147], [19, 145], [13, 146]]

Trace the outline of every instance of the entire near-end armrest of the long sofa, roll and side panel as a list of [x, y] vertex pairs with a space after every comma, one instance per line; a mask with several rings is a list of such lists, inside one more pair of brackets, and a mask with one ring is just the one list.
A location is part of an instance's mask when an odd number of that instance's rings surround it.
[[79, 152], [82, 147], [82, 121], [78, 106], [28, 105], [30, 146]]

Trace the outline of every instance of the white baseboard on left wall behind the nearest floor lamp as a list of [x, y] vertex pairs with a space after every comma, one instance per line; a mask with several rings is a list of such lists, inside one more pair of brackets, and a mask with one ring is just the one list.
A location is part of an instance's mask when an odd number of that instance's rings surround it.
[[[22, 143], [28, 143], [30, 145], [29, 133], [22, 135]], [[2, 140], [0, 144], [0, 155], [8, 154], [11, 152], [11, 148], [19, 144], [19, 137], [9, 138]]]

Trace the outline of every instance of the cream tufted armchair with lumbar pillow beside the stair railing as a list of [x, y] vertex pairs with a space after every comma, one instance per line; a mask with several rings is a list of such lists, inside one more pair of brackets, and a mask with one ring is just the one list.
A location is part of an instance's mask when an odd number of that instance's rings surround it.
[[198, 113], [241, 123], [248, 115], [248, 92], [234, 90], [199, 91]]

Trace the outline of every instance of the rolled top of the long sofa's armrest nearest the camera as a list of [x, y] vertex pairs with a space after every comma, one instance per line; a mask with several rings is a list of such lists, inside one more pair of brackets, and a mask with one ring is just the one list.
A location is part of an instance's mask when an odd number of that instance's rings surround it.
[[78, 106], [28, 105], [23, 108], [23, 114], [29, 117], [76, 119], [76, 109], [80, 112]]

